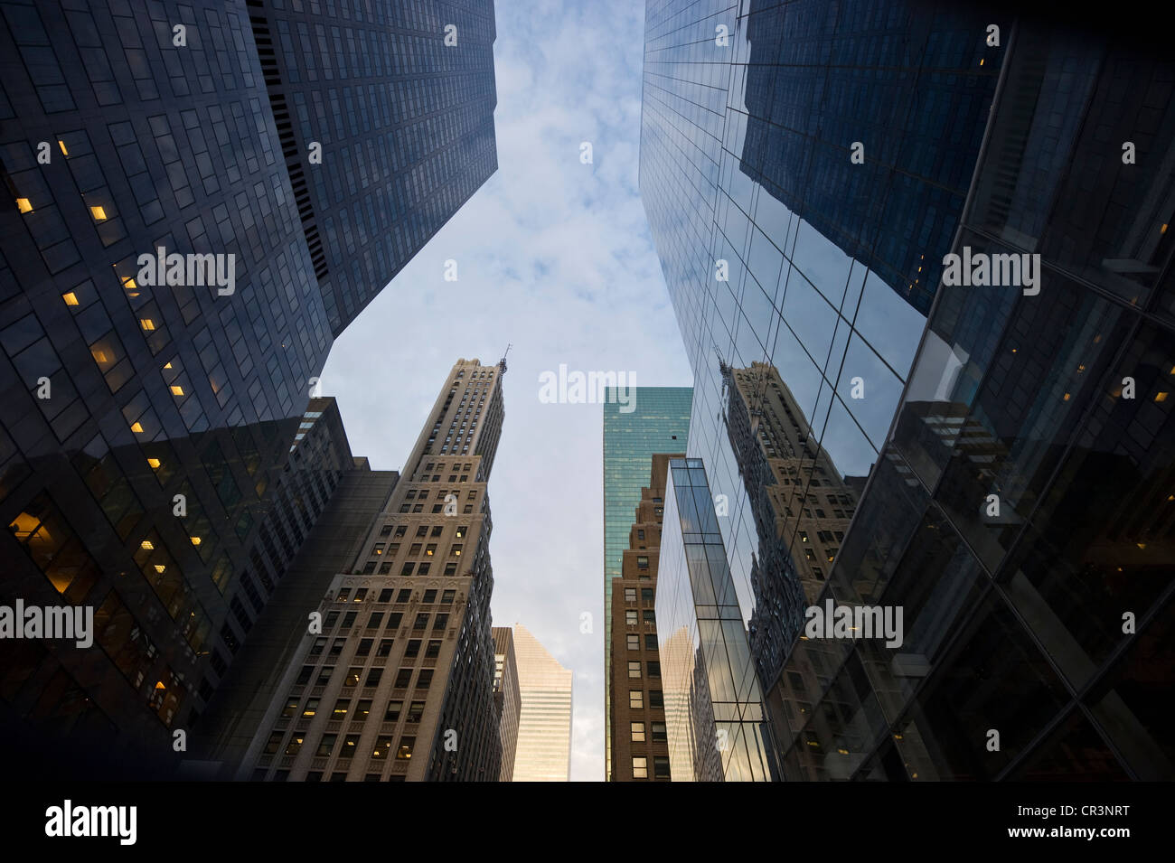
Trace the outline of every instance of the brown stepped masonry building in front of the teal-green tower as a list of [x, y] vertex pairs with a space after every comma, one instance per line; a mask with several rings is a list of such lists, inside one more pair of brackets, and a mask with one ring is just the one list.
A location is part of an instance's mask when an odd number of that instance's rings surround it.
[[[657, 643], [657, 566], [665, 474], [673, 456], [653, 456], [649, 486], [640, 490], [620, 578], [612, 581], [612, 782], [670, 781], [662, 660]], [[682, 458], [678, 456], [677, 458]]]

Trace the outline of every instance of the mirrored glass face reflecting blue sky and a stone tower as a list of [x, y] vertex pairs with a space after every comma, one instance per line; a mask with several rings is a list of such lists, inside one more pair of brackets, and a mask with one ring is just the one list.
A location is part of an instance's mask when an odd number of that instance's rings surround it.
[[912, 2], [646, 6], [642, 198], [694, 373], [687, 453], [766, 688], [926, 325], [1002, 59], [987, 23]]

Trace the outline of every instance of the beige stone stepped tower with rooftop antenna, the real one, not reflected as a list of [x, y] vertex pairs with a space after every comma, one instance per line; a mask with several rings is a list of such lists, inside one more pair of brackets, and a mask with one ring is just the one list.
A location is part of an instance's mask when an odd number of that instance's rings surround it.
[[486, 483], [504, 373], [504, 359], [452, 366], [354, 566], [330, 582], [321, 626], [283, 669], [243, 775], [498, 780]]

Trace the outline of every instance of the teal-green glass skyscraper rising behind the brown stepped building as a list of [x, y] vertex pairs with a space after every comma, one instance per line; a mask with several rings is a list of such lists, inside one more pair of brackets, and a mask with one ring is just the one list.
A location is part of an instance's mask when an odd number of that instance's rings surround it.
[[[637, 386], [625, 405], [607, 390], [604, 399], [604, 749], [612, 764], [612, 580], [622, 572], [632, 515], [649, 485], [652, 457], [682, 452], [690, 430], [689, 386]], [[622, 407], [626, 409], [622, 410]]]

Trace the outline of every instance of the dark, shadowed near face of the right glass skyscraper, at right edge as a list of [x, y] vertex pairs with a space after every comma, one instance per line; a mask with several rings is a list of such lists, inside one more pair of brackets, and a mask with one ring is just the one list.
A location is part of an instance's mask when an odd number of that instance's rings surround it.
[[1040, 292], [940, 288], [828, 586], [905, 643], [797, 643], [790, 778], [1175, 775], [1175, 68], [1034, 26], [1005, 65], [955, 250]]

